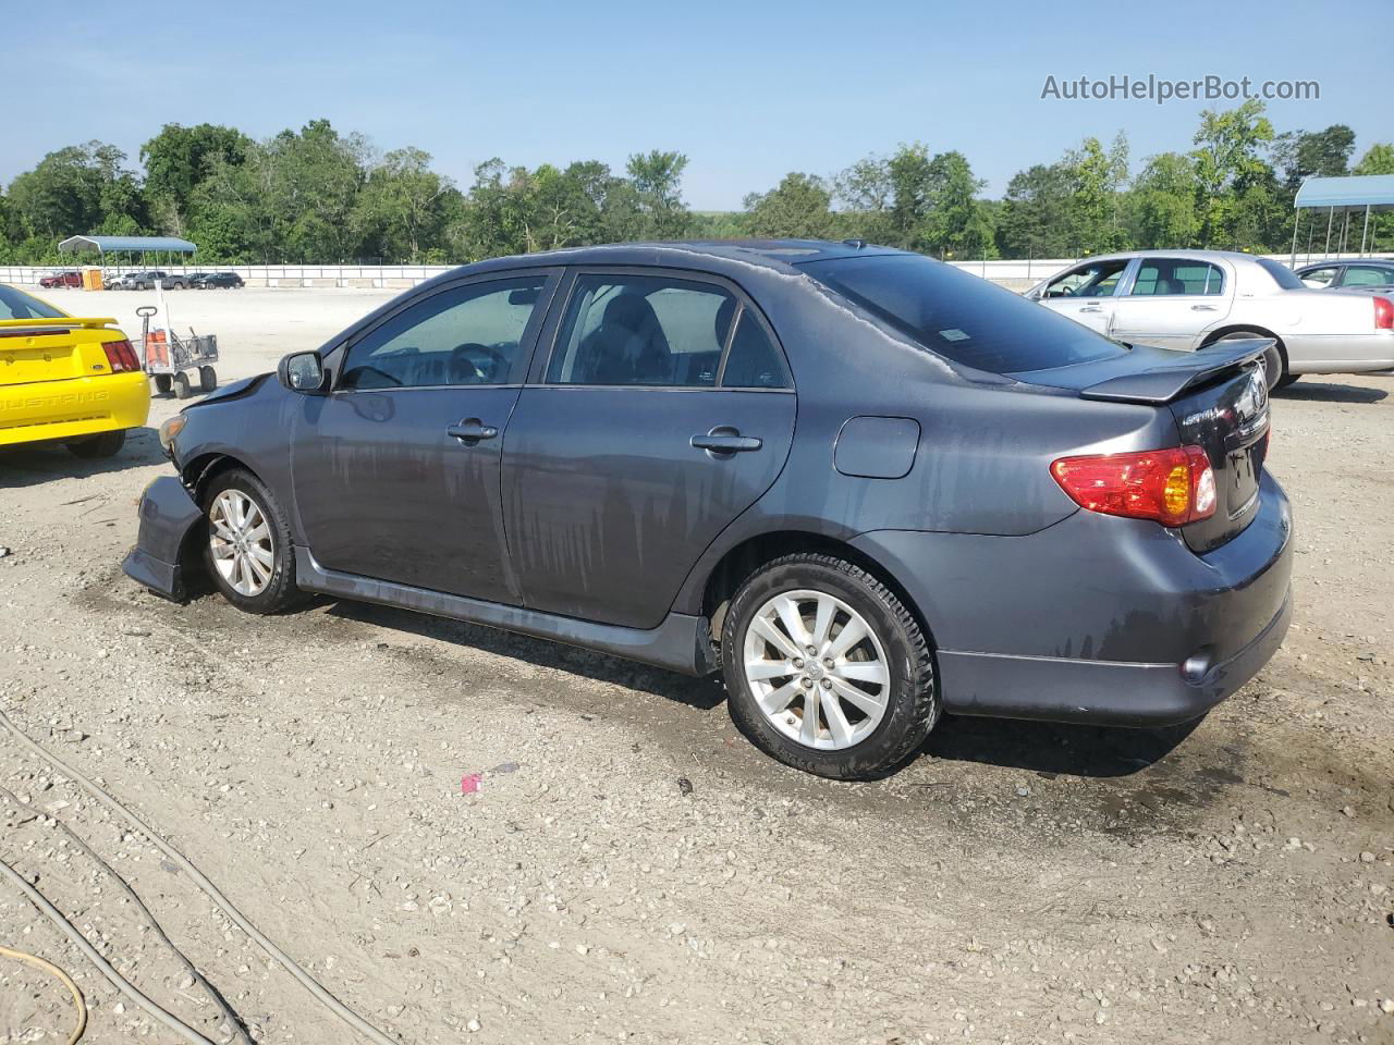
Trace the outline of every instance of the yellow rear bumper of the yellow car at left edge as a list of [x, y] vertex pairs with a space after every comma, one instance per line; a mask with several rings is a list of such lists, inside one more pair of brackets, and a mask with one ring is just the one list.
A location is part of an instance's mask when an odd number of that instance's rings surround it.
[[149, 412], [144, 373], [0, 385], [0, 446], [139, 428]]

